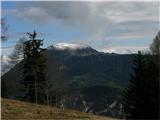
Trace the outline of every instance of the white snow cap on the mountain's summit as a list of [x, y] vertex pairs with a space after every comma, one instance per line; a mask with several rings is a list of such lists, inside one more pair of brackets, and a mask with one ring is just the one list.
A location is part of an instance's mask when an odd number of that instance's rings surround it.
[[85, 49], [90, 48], [88, 45], [85, 44], [71, 44], [71, 43], [58, 43], [56, 45], [53, 45], [54, 48], [58, 50], [77, 50], [77, 49]]

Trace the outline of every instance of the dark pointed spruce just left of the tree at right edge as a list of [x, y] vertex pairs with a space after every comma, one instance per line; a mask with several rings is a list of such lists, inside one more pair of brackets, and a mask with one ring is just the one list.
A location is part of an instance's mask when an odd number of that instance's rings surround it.
[[[144, 117], [145, 96], [145, 57], [139, 51], [133, 60], [133, 73], [131, 74], [129, 85], [125, 90], [124, 112], [126, 118], [140, 119]], [[146, 106], [147, 107], [147, 106]]]

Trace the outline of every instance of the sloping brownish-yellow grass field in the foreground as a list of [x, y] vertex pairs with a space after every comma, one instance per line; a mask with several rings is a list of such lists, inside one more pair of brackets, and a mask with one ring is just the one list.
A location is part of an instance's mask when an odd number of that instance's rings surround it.
[[2, 120], [115, 120], [75, 110], [62, 110], [10, 99], [1, 99]]

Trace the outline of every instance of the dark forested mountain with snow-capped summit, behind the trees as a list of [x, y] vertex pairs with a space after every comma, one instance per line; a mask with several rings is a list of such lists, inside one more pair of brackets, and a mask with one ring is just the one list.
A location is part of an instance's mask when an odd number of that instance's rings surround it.
[[[48, 57], [46, 78], [56, 104], [95, 114], [123, 115], [121, 96], [134, 55], [102, 53], [75, 44], [52, 45], [43, 54]], [[24, 94], [21, 68], [19, 63], [2, 76], [8, 98], [18, 99]]]

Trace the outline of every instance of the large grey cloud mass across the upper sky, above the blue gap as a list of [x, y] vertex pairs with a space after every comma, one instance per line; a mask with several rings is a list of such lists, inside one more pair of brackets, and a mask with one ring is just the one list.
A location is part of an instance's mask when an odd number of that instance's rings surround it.
[[2, 14], [40, 25], [60, 22], [62, 26], [80, 29], [87, 35], [77, 39], [77, 42], [86, 44], [107, 44], [105, 41], [111, 40], [151, 39], [158, 31], [159, 23], [158, 1], [17, 2], [16, 8], [2, 10]]

